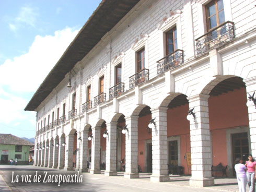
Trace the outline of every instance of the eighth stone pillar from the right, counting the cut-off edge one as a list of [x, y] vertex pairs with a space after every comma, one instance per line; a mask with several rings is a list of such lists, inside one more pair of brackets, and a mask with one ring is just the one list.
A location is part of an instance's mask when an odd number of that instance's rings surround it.
[[64, 170], [74, 170], [73, 169], [73, 152], [74, 152], [74, 135], [66, 136], [66, 146], [65, 146], [65, 166]]

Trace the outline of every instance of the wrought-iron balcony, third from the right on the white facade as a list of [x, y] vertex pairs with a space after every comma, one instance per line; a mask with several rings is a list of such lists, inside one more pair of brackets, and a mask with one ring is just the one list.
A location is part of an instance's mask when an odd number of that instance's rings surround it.
[[129, 88], [132, 89], [137, 85], [147, 81], [149, 79], [149, 70], [143, 69], [133, 76], [129, 77]]

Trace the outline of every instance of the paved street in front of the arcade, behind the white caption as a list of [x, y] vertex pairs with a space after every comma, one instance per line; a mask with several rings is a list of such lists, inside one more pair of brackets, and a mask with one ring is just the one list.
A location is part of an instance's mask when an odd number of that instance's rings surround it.
[[[148, 173], [141, 173], [138, 179], [124, 179], [123, 172], [119, 172], [118, 176], [112, 177], [104, 176], [103, 172], [97, 175], [83, 173], [83, 183], [60, 183], [59, 187], [57, 186], [58, 183], [25, 183], [25, 179], [29, 182], [29, 175], [31, 175], [31, 181], [33, 181], [33, 178], [36, 178], [34, 175], [37, 171], [38, 175], [42, 174], [41, 182], [43, 181], [44, 171], [48, 173], [47, 176], [68, 174], [70, 179], [71, 175], [77, 174], [75, 171], [66, 172], [37, 166], [0, 165], [0, 191], [239, 191], [236, 178], [216, 178], [215, 186], [196, 188], [189, 186], [190, 176], [171, 175], [170, 182], [151, 183], [150, 174]], [[21, 175], [27, 175], [27, 178], [23, 178], [24, 183], [22, 183]], [[11, 183], [11, 181], [15, 182], [17, 177], [19, 183]], [[75, 182], [75, 176], [73, 181]]]

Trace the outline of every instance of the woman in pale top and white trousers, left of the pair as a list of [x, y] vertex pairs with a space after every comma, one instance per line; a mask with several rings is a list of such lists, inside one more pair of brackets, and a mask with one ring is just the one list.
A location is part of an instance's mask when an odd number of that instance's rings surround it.
[[246, 192], [246, 183], [247, 183], [247, 177], [246, 177], [246, 171], [247, 167], [242, 164], [242, 159], [237, 158], [235, 161], [235, 170], [237, 173], [237, 183], [239, 187], [239, 192]]

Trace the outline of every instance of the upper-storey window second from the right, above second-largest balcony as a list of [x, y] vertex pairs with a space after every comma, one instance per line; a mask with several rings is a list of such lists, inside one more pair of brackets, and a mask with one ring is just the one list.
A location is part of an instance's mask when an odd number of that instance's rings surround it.
[[177, 49], [177, 29], [176, 27], [173, 27], [171, 30], [166, 32], [166, 55], [169, 55]]

